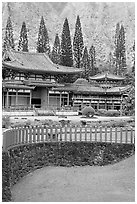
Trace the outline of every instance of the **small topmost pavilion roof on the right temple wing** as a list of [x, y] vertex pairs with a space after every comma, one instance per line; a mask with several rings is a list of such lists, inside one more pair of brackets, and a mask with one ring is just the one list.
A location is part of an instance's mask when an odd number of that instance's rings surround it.
[[89, 78], [90, 78], [90, 80], [105, 80], [105, 79], [107, 79], [107, 80], [119, 80], [119, 81], [122, 81], [125, 79], [125, 77], [114, 75], [114, 74], [111, 74], [108, 72], [97, 74], [97, 75], [89, 77]]

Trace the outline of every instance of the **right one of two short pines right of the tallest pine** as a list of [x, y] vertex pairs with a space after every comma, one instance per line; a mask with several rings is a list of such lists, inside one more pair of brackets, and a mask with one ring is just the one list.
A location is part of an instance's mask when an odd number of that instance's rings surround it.
[[96, 51], [95, 47], [92, 45], [89, 50], [89, 64], [90, 64], [90, 76], [94, 76], [98, 73], [98, 68], [96, 67]]

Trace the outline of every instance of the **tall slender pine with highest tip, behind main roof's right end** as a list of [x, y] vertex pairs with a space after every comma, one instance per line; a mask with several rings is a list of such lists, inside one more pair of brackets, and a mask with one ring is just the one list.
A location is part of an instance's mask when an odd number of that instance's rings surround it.
[[80, 68], [81, 66], [83, 48], [84, 48], [84, 43], [83, 43], [81, 23], [80, 23], [79, 16], [77, 16], [77, 21], [75, 25], [75, 34], [73, 39], [74, 65], [77, 68]]

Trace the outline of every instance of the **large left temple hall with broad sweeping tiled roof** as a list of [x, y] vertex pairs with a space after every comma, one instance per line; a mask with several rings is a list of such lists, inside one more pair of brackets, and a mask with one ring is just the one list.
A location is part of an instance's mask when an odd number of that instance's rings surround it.
[[2, 62], [3, 108], [59, 108], [69, 104], [68, 92], [52, 91], [61, 76], [74, 76], [81, 69], [52, 63], [45, 53], [9, 50]]

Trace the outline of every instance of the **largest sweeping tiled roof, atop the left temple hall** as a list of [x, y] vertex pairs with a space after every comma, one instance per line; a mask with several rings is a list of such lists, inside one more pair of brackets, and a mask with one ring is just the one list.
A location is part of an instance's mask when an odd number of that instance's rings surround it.
[[17, 71], [51, 74], [76, 74], [82, 70], [54, 64], [45, 53], [29, 53], [9, 50], [11, 61], [3, 61], [3, 66]]

